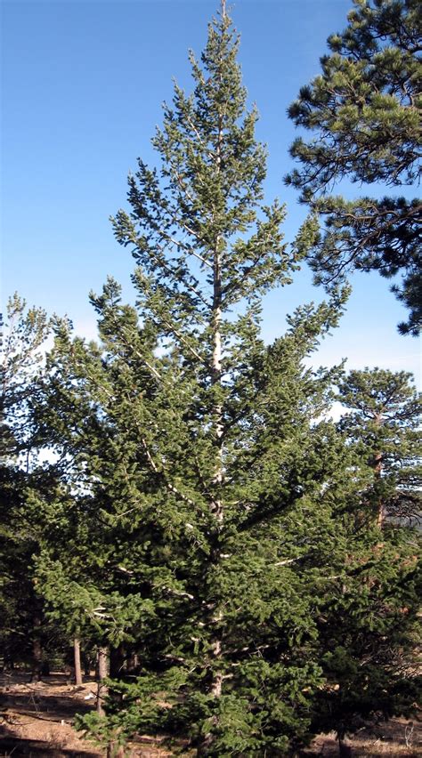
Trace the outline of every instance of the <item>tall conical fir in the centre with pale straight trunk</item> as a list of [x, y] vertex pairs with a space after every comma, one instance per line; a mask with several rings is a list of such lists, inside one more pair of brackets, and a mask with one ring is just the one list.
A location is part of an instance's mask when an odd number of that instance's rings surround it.
[[315, 729], [321, 617], [334, 624], [339, 574], [361, 593], [357, 552], [379, 529], [358, 521], [348, 561], [347, 513], [373, 470], [321, 420], [341, 367], [306, 367], [347, 292], [261, 337], [261, 297], [290, 282], [312, 225], [288, 250], [284, 209], [264, 205], [238, 45], [223, 6], [191, 55], [193, 93], [176, 85], [165, 106], [159, 170], [139, 160], [129, 177], [113, 223], [135, 307], [109, 279], [92, 295], [98, 343], [56, 325], [35, 413], [62, 490], [37, 570], [69, 632], [121, 660], [106, 716], [80, 726], [115, 745], [160, 733], [174, 751], [275, 756]]

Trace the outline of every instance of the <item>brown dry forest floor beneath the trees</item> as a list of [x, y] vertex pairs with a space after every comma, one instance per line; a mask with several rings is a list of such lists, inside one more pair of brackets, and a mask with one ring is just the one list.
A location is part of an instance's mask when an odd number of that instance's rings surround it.
[[[75, 714], [95, 705], [94, 681], [77, 687], [63, 673], [30, 682], [28, 673], [0, 674], [0, 756], [2, 758], [103, 758], [105, 752], [72, 727]], [[347, 740], [353, 758], [416, 758], [422, 756], [422, 724], [393, 719], [361, 730]], [[170, 755], [159, 740], [139, 738], [129, 746], [131, 758]], [[186, 753], [188, 755], [188, 753]], [[304, 756], [338, 755], [335, 735], [320, 735]]]

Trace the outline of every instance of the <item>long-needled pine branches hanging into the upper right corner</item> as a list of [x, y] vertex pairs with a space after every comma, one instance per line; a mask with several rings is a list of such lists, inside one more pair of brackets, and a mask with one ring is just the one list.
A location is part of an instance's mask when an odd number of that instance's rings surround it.
[[[421, 20], [418, 0], [353, 0], [349, 24], [329, 37], [321, 75], [288, 109], [298, 137], [290, 152], [300, 166], [287, 183], [301, 190], [324, 228], [315, 231], [309, 261], [317, 283], [330, 286], [348, 270], [402, 276], [392, 290], [409, 309], [399, 325], [417, 335], [422, 302], [420, 200], [388, 195], [419, 176]], [[376, 198], [329, 193], [347, 179], [374, 184]]]

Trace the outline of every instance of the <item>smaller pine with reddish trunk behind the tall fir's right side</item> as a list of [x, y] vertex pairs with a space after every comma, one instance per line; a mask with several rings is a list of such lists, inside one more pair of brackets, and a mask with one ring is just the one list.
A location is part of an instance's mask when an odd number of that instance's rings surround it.
[[340, 516], [349, 536], [337, 592], [321, 607], [329, 686], [317, 695], [314, 718], [321, 730], [337, 730], [341, 744], [374, 719], [413, 714], [420, 699], [420, 532], [412, 524], [422, 501], [420, 403], [410, 375], [352, 371], [339, 399], [348, 411], [339, 427], [356, 453], [350, 475], [362, 468], [364, 486]]

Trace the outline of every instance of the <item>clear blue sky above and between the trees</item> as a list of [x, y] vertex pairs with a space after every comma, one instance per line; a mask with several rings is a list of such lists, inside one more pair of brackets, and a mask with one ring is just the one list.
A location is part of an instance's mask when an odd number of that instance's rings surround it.
[[[240, 63], [269, 149], [268, 200], [288, 206], [293, 238], [304, 209], [282, 176], [295, 136], [286, 117], [299, 87], [319, 72], [329, 33], [345, 27], [351, 0], [237, 0]], [[150, 137], [172, 77], [189, 90], [187, 50], [199, 53], [217, 0], [3, 0], [3, 300], [67, 313], [93, 335], [90, 289], [108, 274], [126, 288], [133, 262], [115, 242], [109, 215], [126, 203], [136, 157], [155, 161]], [[359, 191], [356, 189], [356, 191]], [[347, 314], [321, 363], [418, 373], [418, 343], [396, 334], [405, 314], [377, 274], [356, 276]], [[284, 330], [296, 305], [321, 300], [306, 270], [267, 297], [264, 335]]]

